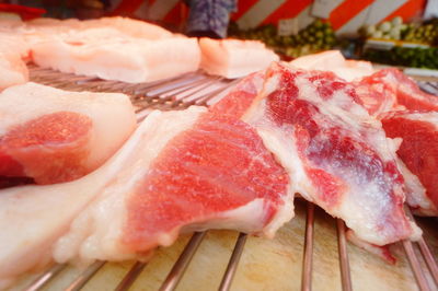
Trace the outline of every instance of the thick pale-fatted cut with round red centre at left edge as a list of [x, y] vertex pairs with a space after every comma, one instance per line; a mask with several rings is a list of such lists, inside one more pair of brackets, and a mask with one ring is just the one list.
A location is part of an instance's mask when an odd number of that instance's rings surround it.
[[124, 94], [67, 92], [31, 82], [0, 94], [0, 176], [26, 176], [38, 184], [90, 173], [136, 126]]

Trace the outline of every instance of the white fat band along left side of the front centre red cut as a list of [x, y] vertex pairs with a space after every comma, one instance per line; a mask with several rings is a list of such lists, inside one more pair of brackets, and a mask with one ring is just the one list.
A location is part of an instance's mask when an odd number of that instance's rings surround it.
[[56, 243], [56, 261], [79, 258], [88, 263], [136, 257], [136, 253], [122, 242], [127, 218], [126, 200], [137, 190], [151, 162], [168, 142], [189, 129], [205, 110], [203, 107], [191, 107], [181, 112], [153, 112], [147, 117], [140, 127], [141, 137], [124, 168], [107, 181], [97, 199], [74, 219], [69, 232]]

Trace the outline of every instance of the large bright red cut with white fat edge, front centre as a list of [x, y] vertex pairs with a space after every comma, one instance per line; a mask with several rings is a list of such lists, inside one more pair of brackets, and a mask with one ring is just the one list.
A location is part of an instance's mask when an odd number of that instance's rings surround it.
[[148, 118], [140, 158], [74, 220], [55, 247], [57, 261], [134, 258], [194, 230], [273, 236], [292, 218], [287, 174], [255, 130], [230, 117], [191, 117], [200, 112]]

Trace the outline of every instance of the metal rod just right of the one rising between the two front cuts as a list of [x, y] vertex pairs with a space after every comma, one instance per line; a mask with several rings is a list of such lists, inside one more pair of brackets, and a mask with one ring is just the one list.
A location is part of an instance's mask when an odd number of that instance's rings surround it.
[[339, 253], [341, 279], [344, 291], [351, 291], [351, 277], [349, 271], [347, 240], [345, 237], [345, 224], [341, 219], [336, 219], [337, 224], [337, 248]]

